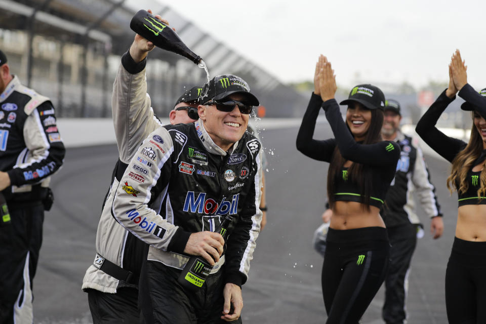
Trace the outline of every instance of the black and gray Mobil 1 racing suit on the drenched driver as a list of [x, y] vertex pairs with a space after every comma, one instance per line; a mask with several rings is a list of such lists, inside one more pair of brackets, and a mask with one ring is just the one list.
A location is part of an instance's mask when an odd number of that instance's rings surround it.
[[[225, 253], [212, 273], [223, 271], [224, 282], [244, 284], [262, 216], [261, 154], [260, 142], [249, 133], [225, 152], [212, 141], [200, 119], [158, 128], [144, 140], [116, 188], [112, 215], [150, 245], [149, 273], [157, 268], [182, 269], [189, 259], [183, 250], [190, 234], [214, 230], [222, 216], [229, 214], [234, 223], [228, 229]], [[170, 310], [175, 304], [180, 307], [181, 301], [161, 301], [154, 293], [160, 282], [162, 290], [177, 285], [174, 278], [149, 275], [148, 282], [154, 309], [163, 309], [166, 315], [169, 311], [175, 316], [173, 322], [189, 320]], [[222, 291], [212, 293], [221, 295]], [[154, 315], [159, 320], [159, 314]]]

